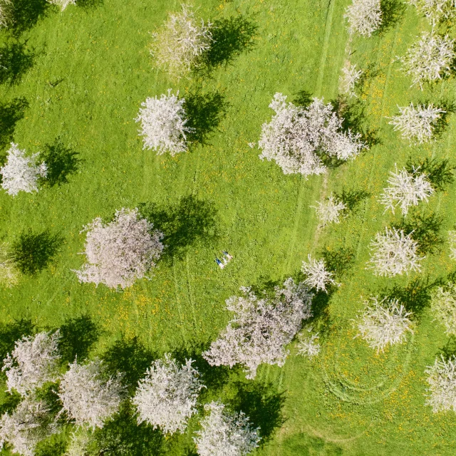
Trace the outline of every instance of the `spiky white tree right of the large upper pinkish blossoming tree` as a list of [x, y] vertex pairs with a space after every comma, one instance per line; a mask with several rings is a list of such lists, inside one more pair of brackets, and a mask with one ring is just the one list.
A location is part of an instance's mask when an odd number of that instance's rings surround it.
[[430, 105], [417, 105], [413, 103], [410, 106], [399, 108], [399, 114], [391, 118], [390, 125], [394, 126], [395, 130], [400, 131], [402, 137], [411, 142], [429, 142], [432, 140], [435, 125], [442, 118], [445, 111]]

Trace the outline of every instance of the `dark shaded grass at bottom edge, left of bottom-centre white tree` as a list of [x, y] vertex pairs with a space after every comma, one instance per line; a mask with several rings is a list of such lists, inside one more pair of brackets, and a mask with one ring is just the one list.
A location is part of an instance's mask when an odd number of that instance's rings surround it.
[[138, 425], [135, 410], [125, 401], [120, 413], [94, 432], [96, 446], [103, 456], [165, 455], [165, 439], [160, 430], [146, 423]]

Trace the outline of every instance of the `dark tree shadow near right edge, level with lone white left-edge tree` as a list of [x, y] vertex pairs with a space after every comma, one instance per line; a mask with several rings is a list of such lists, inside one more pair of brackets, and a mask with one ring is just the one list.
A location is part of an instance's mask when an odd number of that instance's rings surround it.
[[455, 180], [455, 165], [450, 165], [450, 160], [438, 160], [437, 158], [413, 159], [409, 157], [405, 169], [410, 174], [424, 173], [435, 190], [443, 191], [447, 185]]

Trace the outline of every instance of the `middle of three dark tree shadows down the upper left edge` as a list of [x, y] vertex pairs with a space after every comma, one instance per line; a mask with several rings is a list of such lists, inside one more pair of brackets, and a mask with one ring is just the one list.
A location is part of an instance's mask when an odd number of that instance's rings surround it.
[[14, 84], [33, 65], [33, 54], [24, 43], [7, 43], [0, 48], [0, 84]]

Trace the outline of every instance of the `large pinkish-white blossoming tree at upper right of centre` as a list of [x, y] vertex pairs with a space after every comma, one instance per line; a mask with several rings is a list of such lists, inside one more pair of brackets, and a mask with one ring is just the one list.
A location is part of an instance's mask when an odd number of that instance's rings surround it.
[[259, 157], [274, 160], [284, 174], [320, 175], [326, 172], [323, 156], [348, 160], [367, 148], [361, 135], [343, 132], [333, 105], [323, 99], [314, 98], [308, 108], [301, 108], [276, 93], [269, 108], [276, 114], [261, 127]]

